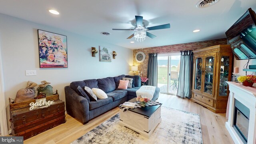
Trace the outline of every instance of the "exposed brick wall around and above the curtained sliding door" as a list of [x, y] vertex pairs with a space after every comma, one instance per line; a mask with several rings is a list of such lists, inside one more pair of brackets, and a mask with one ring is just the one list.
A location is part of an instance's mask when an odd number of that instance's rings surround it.
[[[227, 44], [227, 39], [217, 39], [217, 40], [206, 40], [201, 42], [190, 42], [186, 44], [174, 44], [169, 46], [158, 46], [158, 47], [152, 47], [152, 48], [142, 48], [142, 49], [136, 49], [133, 50], [133, 65], [138, 66], [138, 70], [142, 71], [142, 76], [147, 77], [147, 70], [148, 70], [148, 54], [149, 53], [158, 53], [158, 54], [164, 54], [164, 53], [170, 53], [170, 52], [180, 52], [181, 50], [197, 50], [200, 48], [207, 48], [209, 46], [216, 46], [219, 44]], [[144, 62], [138, 63], [135, 60], [135, 55], [137, 52], [144, 52], [146, 58]], [[138, 74], [138, 73], [137, 73]]]

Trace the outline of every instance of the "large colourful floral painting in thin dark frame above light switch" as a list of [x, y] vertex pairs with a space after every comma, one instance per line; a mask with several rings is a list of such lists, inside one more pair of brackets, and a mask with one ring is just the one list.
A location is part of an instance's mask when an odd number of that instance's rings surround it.
[[67, 36], [38, 30], [40, 68], [67, 68]]

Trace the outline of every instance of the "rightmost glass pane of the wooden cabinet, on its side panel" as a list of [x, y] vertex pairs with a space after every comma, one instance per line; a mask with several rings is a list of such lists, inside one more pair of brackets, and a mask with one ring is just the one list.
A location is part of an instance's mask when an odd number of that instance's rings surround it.
[[220, 87], [219, 96], [227, 96], [228, 74], [229, 74], [229, 60], [230, 56], [222, 56], [220, 62]]

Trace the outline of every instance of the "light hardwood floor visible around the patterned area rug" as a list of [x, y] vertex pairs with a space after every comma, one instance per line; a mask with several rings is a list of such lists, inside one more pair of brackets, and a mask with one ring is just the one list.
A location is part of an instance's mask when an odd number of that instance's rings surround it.
[[[168, 94], [160, 94], [158, 101], [162, 103], [162, 106], [200, 114], [204, 144], [234, 144], [225, 127], [225, 114], [215, 114], [188, 99], [181, 99]], [[100, 125], [108, 118], [118, 114], [118, 110], [119, 108], [114, 108], [90, 120], [89, 123], [85, 125], [82, 125], [71, 116], [66, 115], [65, 124], [61, 124], [29, 138], [24, 141], [24, 144], [69, 144]]]

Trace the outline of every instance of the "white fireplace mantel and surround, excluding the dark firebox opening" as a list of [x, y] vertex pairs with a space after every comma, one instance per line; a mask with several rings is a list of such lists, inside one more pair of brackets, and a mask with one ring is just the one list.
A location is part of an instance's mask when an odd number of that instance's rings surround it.
[[242, 86], [240, 83], [227, 82], [230, 90], [228, 103], [228, 122], [226, 128], [235, 144], [243, 144], [242, 140], [233, 128], [235, 99], [250, 109], [248, 144], [256, 144], [256, 87]]

